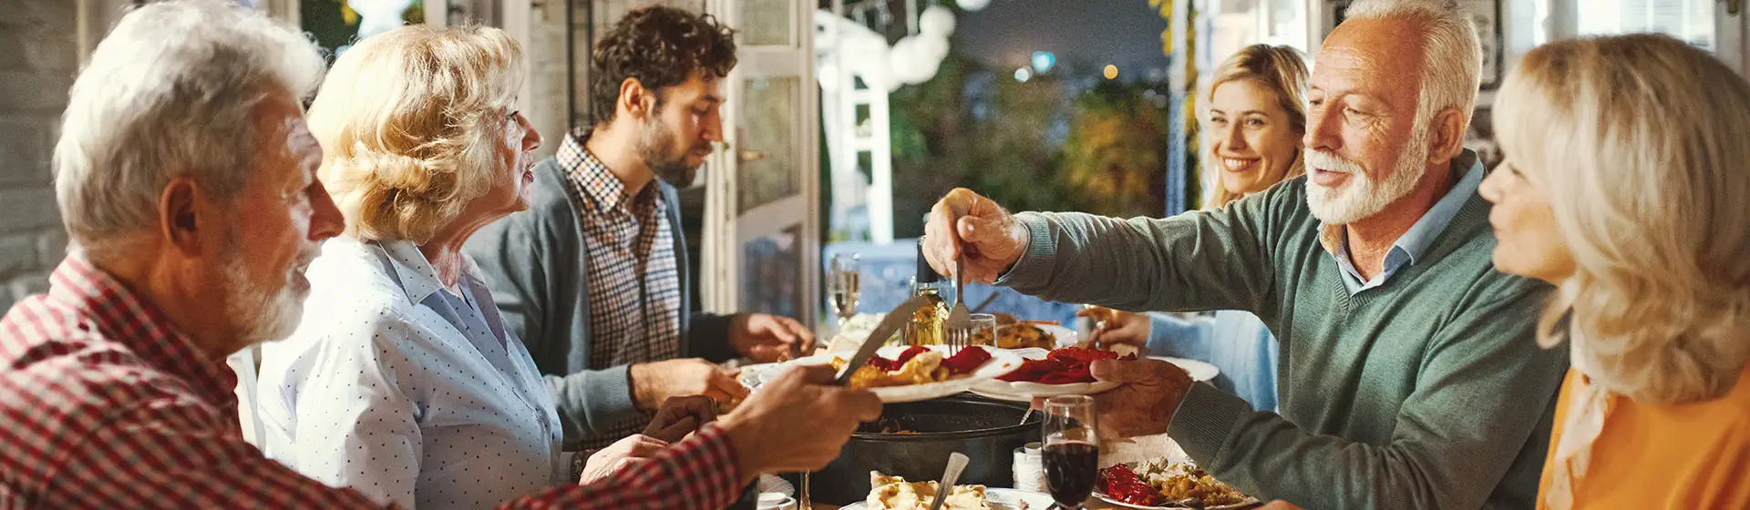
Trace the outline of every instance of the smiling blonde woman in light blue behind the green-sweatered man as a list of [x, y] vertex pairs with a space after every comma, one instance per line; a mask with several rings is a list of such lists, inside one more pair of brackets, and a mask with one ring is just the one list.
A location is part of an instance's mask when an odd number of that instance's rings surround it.
[[[1307, 66], [1286, 45], [1255, 44], [1241, 49], [1214, 72], [1202, 119], [1202, 182], [1211, 189], [1204, 210], [1220, 210], [1244, 196], [1306, 173], [1300, 136], [1306, 134]], [[1146, 344], [1167, 356], [1195, 358], [1222, 369], [1214, 386], [1276, 410], [1276, 337], [1258, 316], [1218, 311], [1178, 318], [1092, 307], [1082, 314], [1104, 320], [1094, 341]]]

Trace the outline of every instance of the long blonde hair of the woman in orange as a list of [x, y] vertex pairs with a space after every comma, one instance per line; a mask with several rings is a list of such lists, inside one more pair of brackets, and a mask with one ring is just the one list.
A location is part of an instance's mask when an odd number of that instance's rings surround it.
[[1494, 128], [1573, 252], [1538, 342], [1572, 332], [1592, 384], [1636, 402], [1729, 391], [1750, 356], [1750, 84], [1664, 35], [1561, 40], [1507, 77]]

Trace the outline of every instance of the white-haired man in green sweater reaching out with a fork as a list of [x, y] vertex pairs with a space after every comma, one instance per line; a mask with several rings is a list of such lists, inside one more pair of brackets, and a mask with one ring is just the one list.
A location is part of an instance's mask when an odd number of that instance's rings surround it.
[[[1251, 311], [1281, 341], [1281, 416], [1164, 362], [1099, 362], [1111, 437], [1169, 433], [1216, 479], [1309, 508], [1528, 508], [1566, 353], [1549, 286], [1494, 271], [1484, 168], [1460, 141], [1477, 35], [1452, 2], [1349, 7], [1309, 80], [1307, 176], [1164, 220], [931, 213], [942, 272], [1054, 300]], [[959, 211], [959, 213], [952, 213]]]

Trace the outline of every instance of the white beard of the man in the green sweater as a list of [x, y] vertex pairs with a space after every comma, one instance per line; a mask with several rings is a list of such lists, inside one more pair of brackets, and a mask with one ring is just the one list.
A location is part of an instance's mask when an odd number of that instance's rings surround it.
[[1410, 143], [1405, 145], [1405, 154], [1398, 157], [1398, 168], [1384, 182], [1376, 182], [1362, 171], [1362, 164], [1348, 161], [1342, 155], [1328, 150], [1307, 150], [1306, 166], [1307, 173], [1314, 168], [1326, 171], [1342, 171], [1349, 178], [1342, 189], [1326, 189], [1316, 180], [1307, 178], [1307, 208], [1312, 210], [1312, 217], [1326, 225], [1348, 225], [1362, 218], [1377, 215], [1386, 210], [1391, 203], [1396, 203], [1404, 196], [1416, 189], [1423, 175], [1428, 173], [1428, 143], [1426, 136], [1414, 136]]

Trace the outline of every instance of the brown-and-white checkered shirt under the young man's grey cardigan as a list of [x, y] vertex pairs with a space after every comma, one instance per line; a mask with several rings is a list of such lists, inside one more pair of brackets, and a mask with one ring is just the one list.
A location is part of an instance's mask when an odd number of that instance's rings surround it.
[[[581, 204], [578, 222], [588, 253], [590, 369], [681, 356], [681, 272], [676, 267], [668, 203], [654, 182], [628, 194], [595, 154], [588, 133], [572, 131], [555, 155], [567, 190]], [[598, 449], [644, 428], [648, 416], [590, 437]]]

